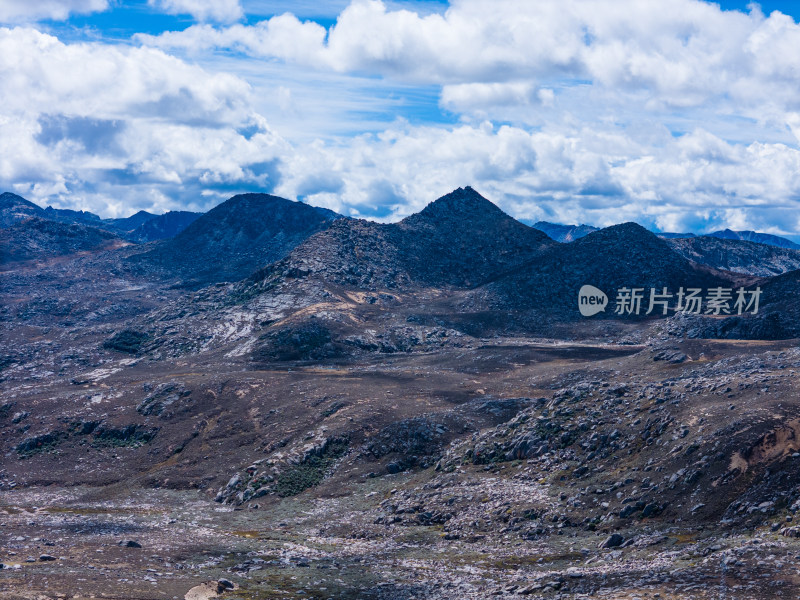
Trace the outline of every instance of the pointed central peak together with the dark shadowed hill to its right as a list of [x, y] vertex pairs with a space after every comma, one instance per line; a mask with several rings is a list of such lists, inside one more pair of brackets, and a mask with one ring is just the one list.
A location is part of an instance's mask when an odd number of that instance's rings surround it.
[[635, 223], [559, 244], [467, 187], [399, 223], [337, 221], [251, 279], [264, 288], [315, 279], [354, 290], [473, 290], [467, 302], [474, 306], [574, 319], [575, 298], [587, 283], [609, 292], [677, 290], [730, 287], [740, 278], [685, 258]]

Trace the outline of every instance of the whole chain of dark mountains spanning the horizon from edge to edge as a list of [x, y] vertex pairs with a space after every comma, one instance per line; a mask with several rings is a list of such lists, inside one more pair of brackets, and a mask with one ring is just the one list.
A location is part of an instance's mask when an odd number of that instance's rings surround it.
[[[633, 223], [602, 230], [544, 221], [531, 227], [470, 187], [393, 224], [344, 218], [268, 194], [234, 196], [205, 214], [139, 211], [100, 219], [4, 193], [0, 225], [3, 264], [121, 246], [123, 240], [150, 242], [127, 250], [123, 263], [189, 288], [251, 275], [318, 277], [368, 290], [491, 284], [484, 300], [506, 307], [530, 308], [545, 297], [558, 303], [574, 295], [578, 280], [611, 289], [687, 278], [719, 283], [800, 269], [800, 246], [777, 236], [653, 234]], [[698, 265], [705, 270], [697, 271]], [[729, 275], [712, 277], [708, 268]]]

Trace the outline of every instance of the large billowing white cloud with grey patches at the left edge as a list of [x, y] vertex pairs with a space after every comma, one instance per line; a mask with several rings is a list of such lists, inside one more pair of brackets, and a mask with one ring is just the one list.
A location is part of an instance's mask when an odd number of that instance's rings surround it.
[[123, 200], [199, 207], [203, 190], [278, 182], [271, 161], [286, 144], [237, 77], [160, 50], [64, 44], [17, 28], [0, 29], [0, 79], [0, 136], [14, 140], [0, 154], [4, 189], [108, 214], [127, 212]]

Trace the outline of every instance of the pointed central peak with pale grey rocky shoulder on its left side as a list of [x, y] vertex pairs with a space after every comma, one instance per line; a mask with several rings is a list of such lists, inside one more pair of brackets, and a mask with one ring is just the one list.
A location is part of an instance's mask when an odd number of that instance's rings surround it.
[[364, 289], [468, 288], [554, 244], [466, 187], [399, 223], [337, 221], [254, 277], [315, 275]]

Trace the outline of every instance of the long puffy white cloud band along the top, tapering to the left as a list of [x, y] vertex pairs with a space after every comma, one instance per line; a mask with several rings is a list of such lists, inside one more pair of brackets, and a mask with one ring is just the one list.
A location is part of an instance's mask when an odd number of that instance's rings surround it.
[[510, 84], [483, 90], [502, 102], [509, 93], [528, 99], [513, 87], [525, 84], [511, 82], [553, 78], [648, 89], [657, 92], [656, 103], [673, 106], [726, 95], [763, 102], [776, 90], [780, 100], [797, 102], [783, 84], [800, 79], [800, 27], [790, 17], [765, 17], [757, 8], [722, 11], [699, 0], [460, 0], [429, 15], [355, 0], [325, 33], [282, 15], [254, 26], [141, 39], [170, 48], [236, 47], [424, 83]]

